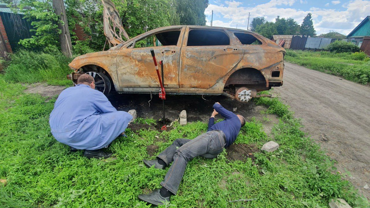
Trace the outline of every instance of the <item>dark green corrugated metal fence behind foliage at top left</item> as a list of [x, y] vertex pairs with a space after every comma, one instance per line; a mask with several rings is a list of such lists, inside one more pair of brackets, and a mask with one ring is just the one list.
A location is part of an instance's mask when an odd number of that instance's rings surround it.
[[35, 32], [30, 32], [33, 26], [31, 26], [30, 22], [23, 19], [23, 14], [0, 12], [0, 16], [13, 51], [19, 47], [19, 40], [35, 35]]

